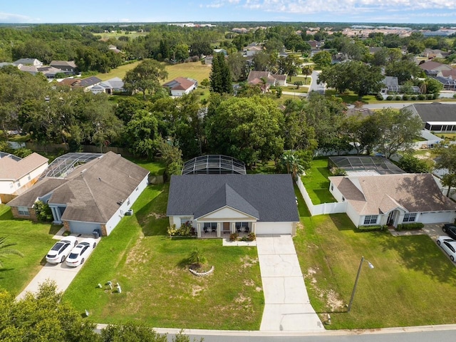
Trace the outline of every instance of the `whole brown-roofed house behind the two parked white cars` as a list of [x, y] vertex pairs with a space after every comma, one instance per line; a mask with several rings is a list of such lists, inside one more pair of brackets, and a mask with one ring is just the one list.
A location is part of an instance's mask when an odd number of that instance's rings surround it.
[[36, 218], [37, 199], [51, 207], [53, 221], [73, 234], [106, 236], [147, 187], [149, 171], [115, 154], [105, 153], [66, 177], [44, 177], [9, 205], [14, 217]]

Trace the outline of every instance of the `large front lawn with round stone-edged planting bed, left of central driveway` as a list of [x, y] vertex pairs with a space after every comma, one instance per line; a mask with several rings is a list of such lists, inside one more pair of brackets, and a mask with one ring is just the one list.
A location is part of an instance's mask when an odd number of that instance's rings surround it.
[[[258, 330], [264, 307], [255, 247], [222, 247], [220, 239], [170, 239], [168, 185], [150, 186], [93, 255], [64, 295], [97, 323], [140, 321], [150, 326]], [[214, 274], [193, 276], [195, 248]], [[120, 283], [122, 293], [105, 286]], [[97, 288], [97, 284], [103, 289]]]

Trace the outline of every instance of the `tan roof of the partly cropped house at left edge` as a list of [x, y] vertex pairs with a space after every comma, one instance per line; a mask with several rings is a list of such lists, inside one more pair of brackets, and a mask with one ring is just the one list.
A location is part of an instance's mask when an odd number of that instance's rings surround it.
[[35, 152], [24, 159], [0, 157], [0, 180], [19, 180], [47, 162], [48, 158]]

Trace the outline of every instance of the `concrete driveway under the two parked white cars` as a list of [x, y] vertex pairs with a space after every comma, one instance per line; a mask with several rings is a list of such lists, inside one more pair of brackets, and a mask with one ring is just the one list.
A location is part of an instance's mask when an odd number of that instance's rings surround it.
[[[56, 235], [53, 236], [53, 239], [60, 240], [63, 239], [63, 232], [64, 230], [61, 229]], [[78, 242], [81, 242], [83, 239], [86, 239], [86, 237], [92, 237], [92, 236], [79, 236], [78, 237]], [[100, 238], [97, 239], [97, 244], [100, 242]], [[51, 249], [52, 245], [49, 246], [49, 249]], [[46, 280], [52, 280], [56, 282], [57, 285], [57, 291], [65, 291], [68, 286], [70, 286], [71, 281], [75, 279], [76, 274], [78, 274], [78, 271], [82, 269], [83, 265], [77, 266], [77, 267], [69, 267], [66, 266], [66, 263], [63, 262], [61, 264], [49, 264], [46, 262], [46, 265], [43, 266], [43, 268], [38, 271], [38, 274], [31, 280], [31, 282], [26, 286], [24, 291], [22, 291], [16, 299], [22, 299], [26, 295], [27, 292], [32, 292], [36, 293], [38, 292], [39, 285], [43, 283]]]

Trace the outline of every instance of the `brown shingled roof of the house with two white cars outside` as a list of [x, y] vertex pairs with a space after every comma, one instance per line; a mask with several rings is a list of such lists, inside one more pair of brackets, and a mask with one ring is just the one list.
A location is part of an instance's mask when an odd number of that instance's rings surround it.
[[105, 223], [149, 174], [114, 152], [81, 165], [54, 190], [49, 203], [66, 204], [62, 219]]

